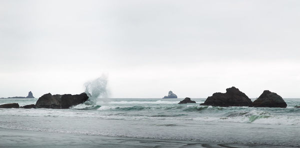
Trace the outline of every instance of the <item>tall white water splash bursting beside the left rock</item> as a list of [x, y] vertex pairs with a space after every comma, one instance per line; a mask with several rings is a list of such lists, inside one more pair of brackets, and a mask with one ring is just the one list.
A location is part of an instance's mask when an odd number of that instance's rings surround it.
[[85, 104], [97, 104], [98, 101], [105, 100], [108, 96], [107, 91], [107, 77], [102, 75], [94, 80], [87, 81], [84, 83], [85, 93], [88, 95], [88, 100]]

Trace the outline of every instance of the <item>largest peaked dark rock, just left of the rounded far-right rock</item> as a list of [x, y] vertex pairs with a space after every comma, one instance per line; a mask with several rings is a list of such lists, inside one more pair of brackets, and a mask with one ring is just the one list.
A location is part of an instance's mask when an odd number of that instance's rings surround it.
[[227, 88], [226, 93], [216, 92], [208, 96], [204, 103], [200, 105], [211, 106], [249, 106], [252, 104], [251, 99], [235, 87]]

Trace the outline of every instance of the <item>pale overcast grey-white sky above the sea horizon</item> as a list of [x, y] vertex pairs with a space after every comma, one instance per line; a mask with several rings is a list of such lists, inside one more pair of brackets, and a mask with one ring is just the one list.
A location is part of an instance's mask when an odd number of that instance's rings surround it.
[[299, 0], [0, 0], [0, 97], [300, 98]]

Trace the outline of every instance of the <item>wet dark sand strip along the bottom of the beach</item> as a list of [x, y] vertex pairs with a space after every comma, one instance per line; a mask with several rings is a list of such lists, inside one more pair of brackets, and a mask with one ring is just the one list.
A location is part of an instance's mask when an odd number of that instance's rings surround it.
[[0, 147], [288, 147], [236, 143], [109, 137], [0, 128]]

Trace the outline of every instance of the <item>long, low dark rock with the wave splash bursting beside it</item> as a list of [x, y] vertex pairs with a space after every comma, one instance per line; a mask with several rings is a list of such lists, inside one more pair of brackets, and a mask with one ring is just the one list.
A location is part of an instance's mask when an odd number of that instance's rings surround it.
[[69, 108], [70, 106], [81, 104], [88, 99], [86, 93], [81, 94], [55, 94], [47, 93], [42, 95], [36, 101], [36, 108]]

